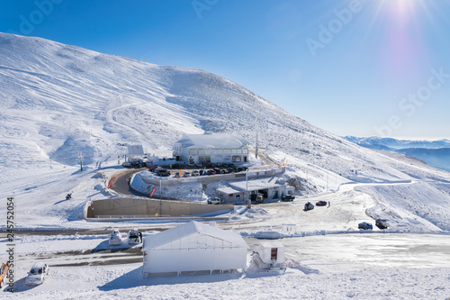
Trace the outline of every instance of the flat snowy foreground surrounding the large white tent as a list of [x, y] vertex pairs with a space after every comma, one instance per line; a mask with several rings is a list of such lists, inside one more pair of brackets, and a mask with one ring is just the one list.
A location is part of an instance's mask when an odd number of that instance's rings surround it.
[[[66, 240], [65, 249], [55, 248]], [[141, 263], [50, 267], [41, 286], [26, 286], [32, 258], [58, 250], [92, 250], [106, 236], [24, 238], [15, 268], [12, 299], [112, 297], [140, 299], [447, 299], [450, 296], [450, 237], [426, 234], [320, 235], [281, 240], [284, 275], [247, 273], [142, 277]], [[247, 240], [252, 250], [257, 241]], [[70, 246], [68, 246], [70, 245]], [[68, 246], [68, 247], [67, 247]], [[34, 252], [30, 248], [38, 248]], [[47, 249], [49, 248], [49, 249]], [[432, 255], [430, 255], [432, 253]], [[30, 256], [26, 256], [28, 254]], [[49, 265], [76, 263], [79, 256], [48, 258]], [[251, 259], [248, 255], [248, 261]], [[104, 257], [103, 257], [104, 260]], [[85, 260], [82, 260], [85, 261]], [[94, 261], [92, 259], [91, 261]]]

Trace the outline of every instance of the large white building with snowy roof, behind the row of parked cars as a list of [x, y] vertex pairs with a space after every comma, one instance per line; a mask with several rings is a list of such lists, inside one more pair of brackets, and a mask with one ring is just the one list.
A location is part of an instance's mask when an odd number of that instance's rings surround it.
[[185, 134], [174, 145], [176, 160], [188, 164], [245, 163], [248, 141], [235, 134]]

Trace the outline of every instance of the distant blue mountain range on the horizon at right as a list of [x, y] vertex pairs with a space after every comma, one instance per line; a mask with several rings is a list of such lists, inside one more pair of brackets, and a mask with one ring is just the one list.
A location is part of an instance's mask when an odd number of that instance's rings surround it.
[[354, 136], [346, 136], [344, 139], [369, 149], [402, 153], [423, 160], [432, 167], [450, 171], [450, 140], [408, 141], [392, 138], [360, 138]]

